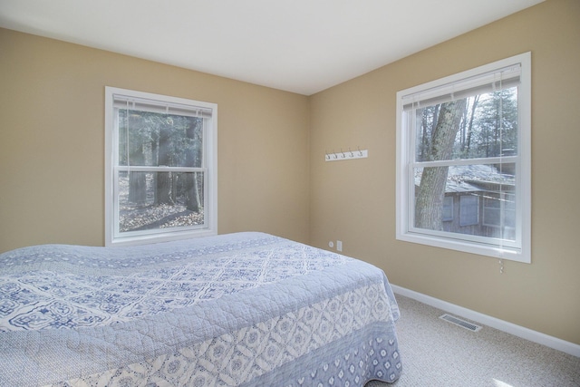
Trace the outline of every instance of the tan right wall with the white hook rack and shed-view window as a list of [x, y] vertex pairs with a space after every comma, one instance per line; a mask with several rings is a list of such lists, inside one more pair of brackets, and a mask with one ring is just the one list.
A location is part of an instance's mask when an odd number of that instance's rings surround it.
[[[395, 93], [532, 52], [532, 264], [395, 239]], [[393, 284], [580, 343], [580, 2], [548, 0], [311, 98], [311, 243]], [[369, 158], [324, 162], [360, 146]]]

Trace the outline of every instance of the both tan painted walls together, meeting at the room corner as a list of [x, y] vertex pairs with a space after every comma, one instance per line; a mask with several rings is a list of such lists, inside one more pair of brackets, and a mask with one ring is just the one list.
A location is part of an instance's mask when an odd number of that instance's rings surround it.
[[[104, 86], [218, 103], [219, 232], [261, 230], [580, 343], [580, 2], [548, 0], [311, 98], [0, 29], [0, 251], [102, 246]], [[532, 52], [532, 265], [395, 240], [395, 93]], [[309, 131], [310, 128], [310, 131]], [[324, 153], [369, 158], [324, 162]]]

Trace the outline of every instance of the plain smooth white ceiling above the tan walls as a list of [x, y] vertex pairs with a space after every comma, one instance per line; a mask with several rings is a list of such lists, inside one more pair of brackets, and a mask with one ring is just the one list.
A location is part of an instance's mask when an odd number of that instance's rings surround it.
[[0, 26], [311, 95], [542, 1], [0, 0]]

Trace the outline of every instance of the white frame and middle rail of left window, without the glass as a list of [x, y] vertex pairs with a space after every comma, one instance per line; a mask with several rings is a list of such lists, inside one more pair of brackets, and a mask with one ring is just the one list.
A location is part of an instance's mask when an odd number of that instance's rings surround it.
[[[204, 225], [200, 227], [177, 227], [163, 231], [160, 228], [148, 233], [128, 232], [124, 236], [116, 231], [119, 229], [118, 211], [118, 173], [128, 167], [119, 165], [119, 131], [118, 113], [115, 107], [115, 97], [152, 102], [152, 109], [160, 106], [183, 107], [189, 111], [203, 110], [203, 168], [194, 167], [132, 167], [133, 171], [172, 172], [203, 171], [204, 173]], [[149, 111], [149, 110], [146, 110]], [[159, 111], [158, 111], [159, 112]], [[186, 115], [186, 114], [184, 114]], [[211, 102], [198, 102], [185, 98], [150, 92], [138, 92], [105, 86], [105, 246], [136, 246], [150, 243], [166, 242], [190, 237], [208, 237], [218, 234], [218, 105]], [[177, 229], [176, 229], [177, 228]]]

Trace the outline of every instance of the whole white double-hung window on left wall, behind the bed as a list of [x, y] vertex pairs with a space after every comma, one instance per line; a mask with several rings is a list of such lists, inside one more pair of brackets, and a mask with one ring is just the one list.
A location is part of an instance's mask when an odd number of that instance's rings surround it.
[[214, 103], [105, 89], [105, 244], [218, 233]]

